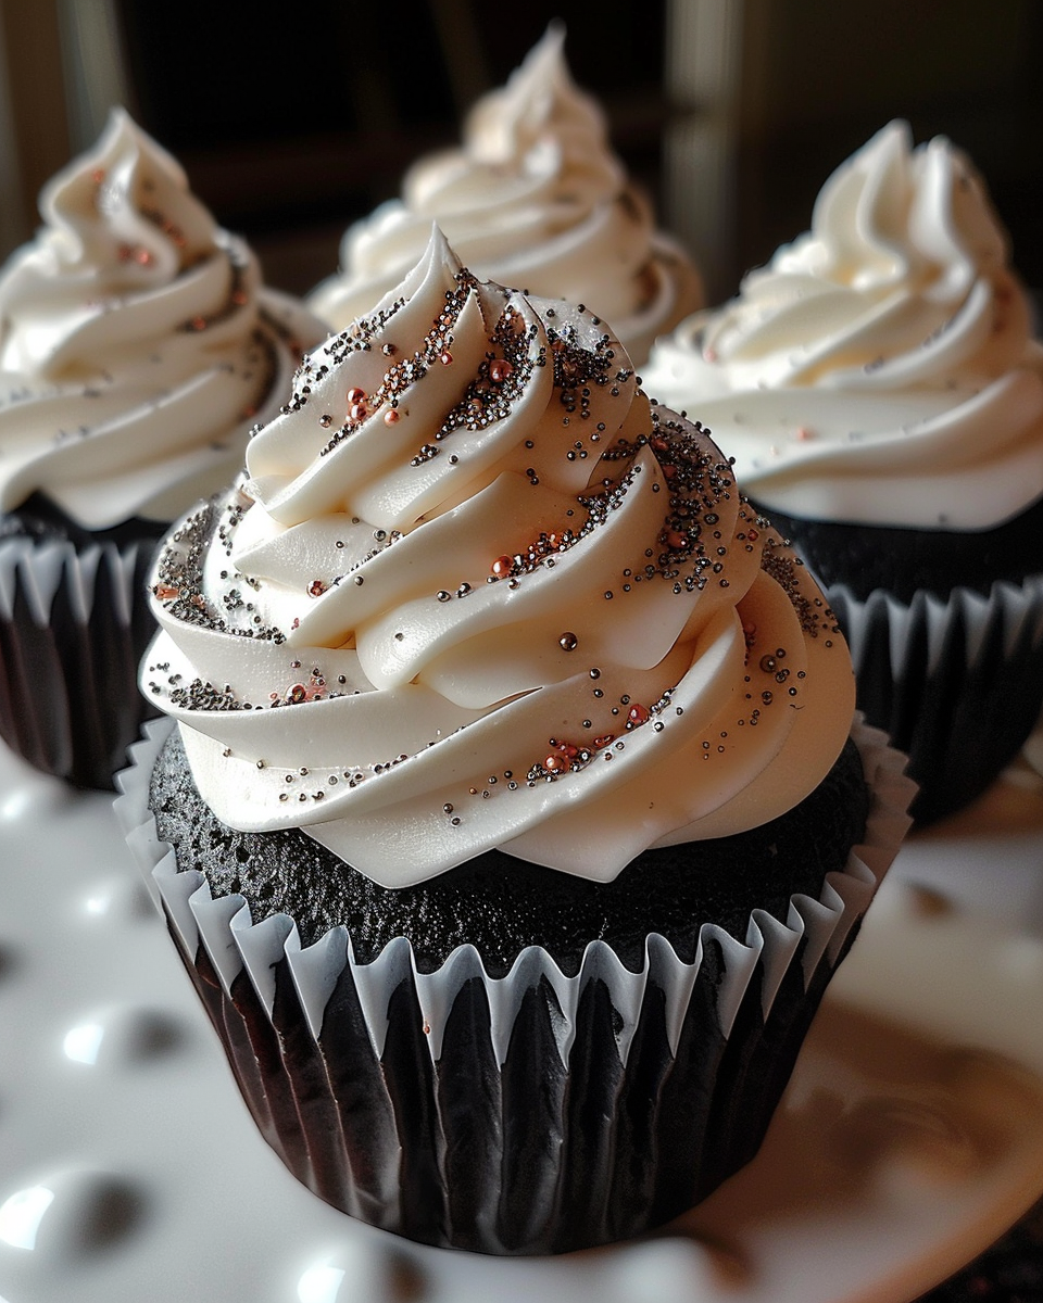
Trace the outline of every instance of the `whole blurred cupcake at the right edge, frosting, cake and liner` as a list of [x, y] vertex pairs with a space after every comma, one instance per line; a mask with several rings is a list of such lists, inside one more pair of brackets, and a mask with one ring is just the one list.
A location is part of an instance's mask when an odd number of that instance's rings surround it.
[[965, 155], [892, 122], [643, 374], [825, 585], [917, 817], [973, 800], [1043, 702], [1043, 349]]

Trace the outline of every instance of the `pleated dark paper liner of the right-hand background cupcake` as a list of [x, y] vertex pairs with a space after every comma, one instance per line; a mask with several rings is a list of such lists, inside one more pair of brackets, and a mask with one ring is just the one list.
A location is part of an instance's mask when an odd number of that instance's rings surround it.
[[1043, 708], [1043, 576], [957, 588], [948, 601], [827, 589], [851, 649], [858, 705], [909, 754], [931, 822], [979, 796], [1017, 754]]

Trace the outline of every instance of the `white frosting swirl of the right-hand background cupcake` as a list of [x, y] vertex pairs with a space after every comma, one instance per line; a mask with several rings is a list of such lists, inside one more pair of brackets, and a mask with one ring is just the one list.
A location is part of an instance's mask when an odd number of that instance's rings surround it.
[[966, 156], [892, 122], [823, 186], [811, 231], [643, 369], [793, 516], [979, 530], [1043, 494], [1043, 349]]

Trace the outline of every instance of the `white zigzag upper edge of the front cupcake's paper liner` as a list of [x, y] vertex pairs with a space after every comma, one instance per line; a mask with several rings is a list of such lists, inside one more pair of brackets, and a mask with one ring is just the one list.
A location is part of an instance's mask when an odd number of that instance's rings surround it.
[[155, 820], [147, 808], [149, 775], [167, 739], [171, 722], [153, 721], [143, 728], [140, 743], [130, 748], [132, 766], [117, 775], [121, 794], [115, 809], [128, 843], [142, 872], [154, 881], [185, 952], [192, 956], [202, 945], [231, 995], [236, 977], [246, 971], [258, 998], [271, 1014], [274, 964], [286, 955], [293, 982], [313, 1036], [318, 1036], [326, 1003], [343, 966], [351, 967], [365, 1012], [374, 1053], [379, 1058], [387, 1032], [387, 1009], [392, 992], [412, 971], [417, 998], [429, 1029], [425, 1037], [433, 1061], [441, 1055], [446, 1019], [463, 981], [480, 977], [489, 999], [492, 1040], [497, 1061], [507, 1057], [511, 1028], [525, 992], [545, 979], [554, 989], [562, 1010], [557, 1029], [558, 1052], [567, 1063], [575, 1011], [592, 980], [605, 982], [613, 1007], [621, 1015], [617, 1032], [621, 1062], [626, 1063], [649, 975], [666, 998], [666, 1028], [671, 1053], [677, 1052], [684, 1012], [701, 963], [705, 945], [716, 941], [724, 952], [724, 980], [717, 994], [721, 1031], [729, 1036], [750, 979], [761, 964], [761, 1010], [767, 1018], [790, 959], [803, 938], [804, 981], [810, 981], [819, 962], [828, 956], [836, 963], [851, 929], [860, 920], [883, 880], [901, 838], [910, 825], [905, 813], [915, 784], [903, 774], [905, 757], [893, 751], [879, 730], [855, 715], [851, 736], [859, 748], [871, 808], [866, 838], [849, 856], [841, 873], [830, 873], [819, 900], [794, 895], [786, 924], [767, 921], [761, 911], [750, 919], [746, 942], [739, 942], [714, 924], [700, 929], [695, 960], [686, 964], [665, 938], [652, 934], [645, 942], [645, 960], [639, 972], [630, 972], [604, 942], [591, 942], [575, 976], [566, 976], [542, 949], [531, 946], [515, 960], [505, 977], [490, 977], [473, 946], [452, 951], [432, 973], [416, 966], [412, 946], [404, 937], [389, 942], [369, 964], [360, 964], [343, 928], [331, 929], [312, 946], [301, 947], [296, 924], [275, 915], [253, 924], [242, 896], [211, 899], [205, 874], [179, 873], [171, 847], [160, 842]]

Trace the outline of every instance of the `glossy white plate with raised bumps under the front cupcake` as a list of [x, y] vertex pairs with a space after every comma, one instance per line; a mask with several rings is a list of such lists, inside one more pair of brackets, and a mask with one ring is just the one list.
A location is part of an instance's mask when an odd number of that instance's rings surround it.
[[[1043, 820], [1022, 834], [1031, 877]], [[0, 1303], [906, 1303], [1043, 1186], [1043, 945], [907, 885], [961, 851], [980, 890], [993, 844], [902, 852], [764, 1148], [712, 1199], [644, 1242], [499, 1260], [374, 1231], [284, 1171], [108, 800], [0, 752]]]

